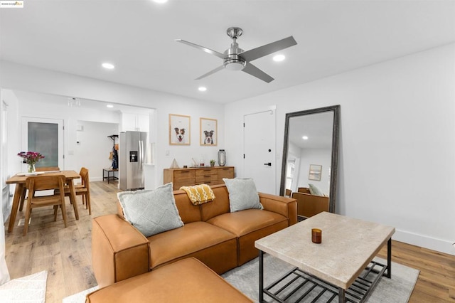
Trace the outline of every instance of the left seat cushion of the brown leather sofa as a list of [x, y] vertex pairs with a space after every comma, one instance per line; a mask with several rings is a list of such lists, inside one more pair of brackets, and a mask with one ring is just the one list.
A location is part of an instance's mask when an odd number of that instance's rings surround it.
[[237, 265], [235, 235], [209, 223], [188, 223], [148, 239], [152, 270], [183, 257], [197, 257], [218, 273]]

